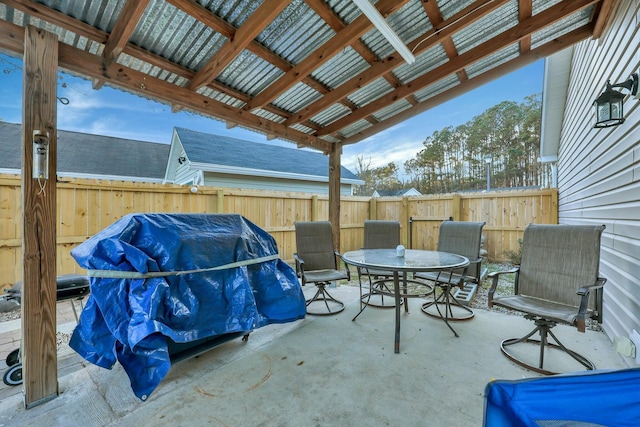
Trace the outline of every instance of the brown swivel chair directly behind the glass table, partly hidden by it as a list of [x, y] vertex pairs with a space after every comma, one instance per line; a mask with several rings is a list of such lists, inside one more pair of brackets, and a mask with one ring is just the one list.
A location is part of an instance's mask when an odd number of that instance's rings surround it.
[[[364, 222], [364, 249], [395, 249], [399, 244], [400, 221], [367, 220]], [[358, 269], [358, 274], [361, 273], [361, 269]], [[364, 304], [375, 307], [395, 307], [395, 298], [389, 296], [393, 294], [393, 289], [387, 285], [387, 282], [393, 281], [393, 272], [366, 269], [364, 273], [369, 276], [369, 292], [362, 294], [362, 282], [360, 282], [360, 300]]]

